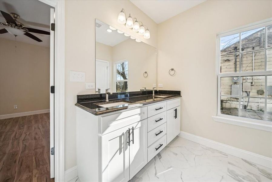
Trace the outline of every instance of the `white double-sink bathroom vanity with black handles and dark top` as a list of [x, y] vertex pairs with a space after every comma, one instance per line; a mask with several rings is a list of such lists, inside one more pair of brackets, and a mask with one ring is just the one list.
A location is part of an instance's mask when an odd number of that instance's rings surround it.
[[128, 181], [171, 142], [180, 133], [181, 97], [179, 91], [172, 92], [176, 95], [165, 91], [157, 91], [155, 96], [145, 91], [132, 97], [129, 95], [139, 92], [115, 93], [110, 105], [99, 100], [105, 94], [78, 95], [80, 180]]

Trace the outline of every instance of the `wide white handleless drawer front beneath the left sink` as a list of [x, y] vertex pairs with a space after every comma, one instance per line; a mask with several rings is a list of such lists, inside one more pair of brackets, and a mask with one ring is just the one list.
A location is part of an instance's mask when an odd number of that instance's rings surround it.
[[101, 134], [110, 133], [146, 118], [147, 107], [101, 117]]

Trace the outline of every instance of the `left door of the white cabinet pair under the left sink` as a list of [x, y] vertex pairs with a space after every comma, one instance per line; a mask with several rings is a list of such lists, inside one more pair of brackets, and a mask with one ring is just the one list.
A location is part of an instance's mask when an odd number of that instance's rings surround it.
[[128, 127], [103, 135], [101, 142], [102, 181], [128, 181]]

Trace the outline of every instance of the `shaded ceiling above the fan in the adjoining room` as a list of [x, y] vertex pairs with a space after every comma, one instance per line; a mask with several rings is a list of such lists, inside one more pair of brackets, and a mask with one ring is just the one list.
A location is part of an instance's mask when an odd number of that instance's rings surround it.
[[[23, 23], [25, 27], [50, 31], [50, 8], [51, 6], [42, 3], [38, 0], [1, 0], [0, 9], [6, 13], [16, 13], [20, 15], [19, 22]], [[0, 13], [1, 14], [1, 13]], [[0, 15], [0, 22], [4, 23], [5, 19]], [[6, 26], [1, 25], [1, 29]], [[42, 35], [38, 33], [31, 33], [41, 39], [43, 42], [37, 42], [25, 35], [20, 35], [16, 38], [18, 42], [25, 42], [29, 44], [49, 47], [50, 35]], [[1, 38], [15, 40], [15, 37], [10, 33], [0, 34]]]

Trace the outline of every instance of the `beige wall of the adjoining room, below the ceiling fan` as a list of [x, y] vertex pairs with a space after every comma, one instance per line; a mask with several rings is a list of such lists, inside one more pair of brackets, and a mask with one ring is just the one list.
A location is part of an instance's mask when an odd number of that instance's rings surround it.
[[49, 109], [49, 48], [16, 46], [15, 52], [15, 41], [0, 39], [0, 115]]

